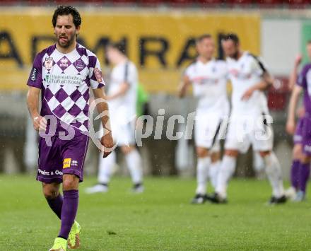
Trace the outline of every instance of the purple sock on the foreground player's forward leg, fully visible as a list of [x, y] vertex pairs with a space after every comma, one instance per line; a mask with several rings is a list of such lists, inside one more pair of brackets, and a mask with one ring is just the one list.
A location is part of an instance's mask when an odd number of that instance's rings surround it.
[[76, 212], [78, 211], [78, 190], [64, 191], [64, 202], [61, 209], [61, 230], [59, 231], [59, 237], [67, 240], [74, 219], [76, 218]]

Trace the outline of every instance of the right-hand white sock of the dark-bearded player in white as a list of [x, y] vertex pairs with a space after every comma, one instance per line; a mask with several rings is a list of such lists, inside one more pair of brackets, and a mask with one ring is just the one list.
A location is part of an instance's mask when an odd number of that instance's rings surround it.
[[278, 158], [276, 158], [274, 152], [264, 157], [264, 163], [266, 165], [266, 175], [272, 187], [272, 194], [274, 197], [279, 198], [284, 195], [284, 188], [281, 165], [278, 163]]

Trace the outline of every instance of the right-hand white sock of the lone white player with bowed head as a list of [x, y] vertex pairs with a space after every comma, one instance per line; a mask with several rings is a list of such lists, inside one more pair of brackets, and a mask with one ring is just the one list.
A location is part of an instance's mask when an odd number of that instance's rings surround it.
[[139, 151], [134, 149], [125, 155], [127, 161], [127, 167], [131, 174], [131, 180], [134, 184], [143, 182], [143, 169], [141, 168], [141, 156]]

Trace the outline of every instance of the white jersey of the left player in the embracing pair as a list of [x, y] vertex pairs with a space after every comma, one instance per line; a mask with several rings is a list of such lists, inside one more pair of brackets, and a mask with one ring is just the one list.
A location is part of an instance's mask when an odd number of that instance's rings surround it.
[[224, 61], [212, 59], [204, 64], [196, 60], [188, 66], [185, 75], [193, 84], [194, 96], [199, 99], [198, 110], [227, 112], [229, 107], [226, 88], [228, 69]]

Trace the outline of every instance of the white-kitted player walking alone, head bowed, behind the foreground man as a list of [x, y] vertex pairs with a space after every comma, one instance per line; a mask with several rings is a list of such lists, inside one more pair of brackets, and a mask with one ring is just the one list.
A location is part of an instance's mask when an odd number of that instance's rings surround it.
[[[141, 156], [135, 144], [136, 100], [139, 82], [137, 69], [124, 54], [122, 46], [111, 43], [107, 45], [106, 52], [108, 61], [113, 65], [107, 91], [112, 134], [115, 144], [124, 153], [134, 184], [133, 192], [143, 192]], [[115, 151], [107, 158], [100, 158], [98, 185], [89, 187], [86, 192], [107, 192], [115, 163]]]

